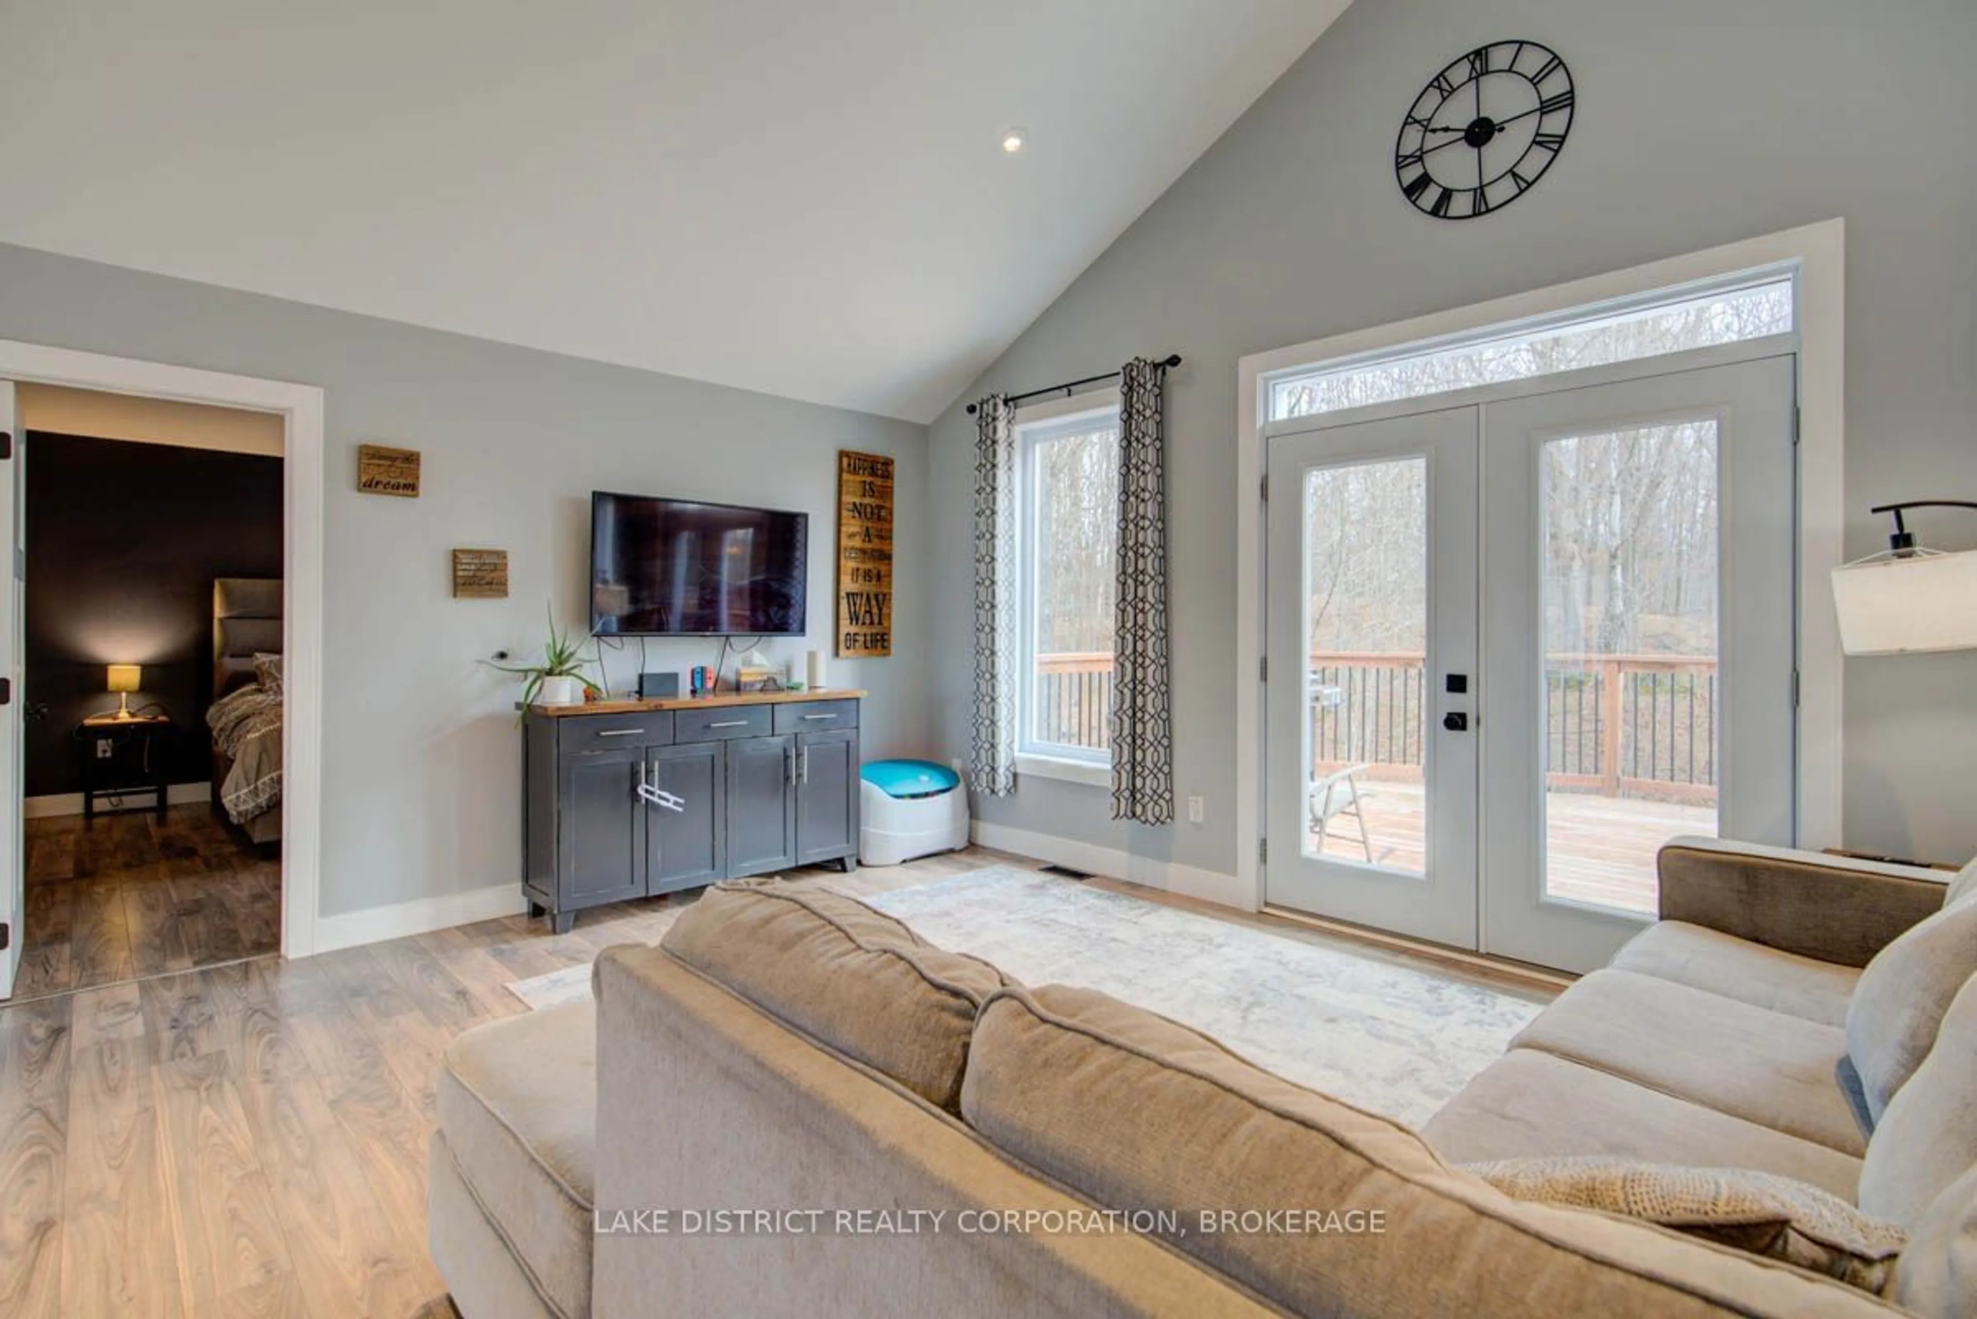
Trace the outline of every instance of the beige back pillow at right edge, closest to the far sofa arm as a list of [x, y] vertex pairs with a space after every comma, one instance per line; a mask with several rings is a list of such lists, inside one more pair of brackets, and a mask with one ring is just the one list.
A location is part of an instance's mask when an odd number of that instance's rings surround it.
[[1945, 906], [1866, 963], [1847, 1009], [1847, 1052], [1874, 1121], [1930, 1056], [1949, 1001], [1973, 973], [1977, 894]]

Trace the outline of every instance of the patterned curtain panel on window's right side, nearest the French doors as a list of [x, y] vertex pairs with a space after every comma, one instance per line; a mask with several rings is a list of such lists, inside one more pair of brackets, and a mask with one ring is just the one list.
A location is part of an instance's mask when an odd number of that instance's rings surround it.
[[1166, 366], [1119, 372], [1119, 591], [1113, 672], [1113, 819], [1174, 821], [1166, 684]]

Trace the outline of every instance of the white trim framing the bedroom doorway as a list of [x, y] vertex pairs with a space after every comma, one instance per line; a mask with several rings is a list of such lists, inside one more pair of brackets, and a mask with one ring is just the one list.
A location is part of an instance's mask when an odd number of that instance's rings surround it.
[[322, 890], [322, 390], [16, 340], [0, 340], [0, 380], [283, 417], [281, 951], [308, 957]]

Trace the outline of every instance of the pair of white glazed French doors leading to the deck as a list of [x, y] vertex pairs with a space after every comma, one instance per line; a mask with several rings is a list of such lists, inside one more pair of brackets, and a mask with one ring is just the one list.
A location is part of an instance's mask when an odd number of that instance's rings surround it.
[[1584, 971], [1667, 838], [1793, 840], [1795, 358], [1740, 352], [1271, 427], [1269, 904]]

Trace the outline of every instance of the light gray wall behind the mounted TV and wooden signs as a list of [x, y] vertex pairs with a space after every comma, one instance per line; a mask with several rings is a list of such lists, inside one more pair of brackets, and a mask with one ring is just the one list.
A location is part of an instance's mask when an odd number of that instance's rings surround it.
[[[520, 878], [518, 688], [476, 660], [540, 653], [550, 601], [587, 627], [593, 488], [809, 510], [811, 645], [828, 647], [836, 451], [898, 457], [896, 659], [830, 676], [872, 688], [868, 755], [923, 749], [923, 427], [4, 245], [0, 338], [324, 388], [324, 914]], [[360, 441], [419, 449], [425, 492], [358, 494]], [[510, 597], [451, 599], [455, 546], [506, 548]], [[803, 643], [765, 649], [801, 672]], [[607, 653], [613, 682], [635, 657]]]

